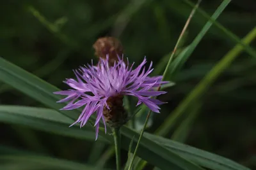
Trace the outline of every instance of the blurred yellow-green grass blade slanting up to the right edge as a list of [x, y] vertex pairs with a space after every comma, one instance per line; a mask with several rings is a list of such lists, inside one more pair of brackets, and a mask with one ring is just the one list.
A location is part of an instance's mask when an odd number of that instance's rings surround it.
[[[243, 39], [245, 44], [249, 44], [253, 39], [256, 38], [256, 27], [252, 29], [251, 32]], [[203, 80], [196, 85], [189, 95], [184, 99], [177, 108], [170, 114], [168, 118], [163, 122], [163, 124], [157, 129], [156, 134], [164, 136], [173, 127], [175, 121], [186, 111], [193, 101], [202, 96], [202, 94], [207, 90], [208, 87], [218, 78], [218, 76], [228, 67], [231, 62], [236, 59], [236, 57], [243, 52], [243, 46], [236, 45], [232, 50], [230, 50], [203, 78]]]

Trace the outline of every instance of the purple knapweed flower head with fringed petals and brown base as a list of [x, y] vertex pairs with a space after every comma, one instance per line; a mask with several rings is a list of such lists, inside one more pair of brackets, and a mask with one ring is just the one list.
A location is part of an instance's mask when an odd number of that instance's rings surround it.
[[109, 57], [100, 58], [97, 66], [88, 64], [80, 67], [74, 71], [76, 80], [68, 78], [64, 81], [71, 89], [54, 92], [67, 96], [58, 101], [69, 101], [62, 110], [84, 107], [74, 124], [80, 123], [80, 127], [83, 127], [93, 114], [96, 115], [96, 139], [100, 120], [104, 123], [105, 132], [106, 122], [112, 127], [125, 124], [127, 114], [123, 106], [124, 96], [134, 96], [138, 98], [137, 106], [144, 103], [150, 110], [159, 113], [158, 105], [163, 102], [152, 97], [165, 94], [164, 91], [157, 91], [156, 87], [168, 83], [161, 80], [162, 76], [148, 76], [153, 69], [152, 62], [148, 69], [145, 68], [146, 58], [135, 69], [132, 69], [134, 63], [129, 66], [128, 59], [125, 62], [124, 59], [118, 58], [113, 66], [109, 66], [108, 60]]

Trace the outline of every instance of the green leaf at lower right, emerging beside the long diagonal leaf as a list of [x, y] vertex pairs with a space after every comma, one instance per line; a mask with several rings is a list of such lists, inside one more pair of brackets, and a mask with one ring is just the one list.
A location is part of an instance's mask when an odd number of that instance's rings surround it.
[[172, 141], [170, 139], [163, 138], [161, 136], [156, 136], [153, 134], [146, 133], [145, 136], [156, 141], [160, 145], [172, 150], [179, 154], [180, 156], [189, 159], [200, 166], [207, 167], [209, 169], [216, 170], [249, 170], [248, 167], [244, 167], [236, 162], [227, 159], [225, 157], [221, 157], [219, 155], [215, 155], [213, 153], [206, 152], [204, 150], [200, 150], [198, 148], [194, 148], [192, 146], [184, 145], [182, 143], [178, 143], [176, 141]]

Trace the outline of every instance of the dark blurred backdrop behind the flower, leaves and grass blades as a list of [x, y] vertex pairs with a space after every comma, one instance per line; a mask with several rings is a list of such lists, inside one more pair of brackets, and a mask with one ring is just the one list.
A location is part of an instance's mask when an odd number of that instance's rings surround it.
[[[220, 0], [203, 0], [200, 8], [212, 15], [220, 3]], [[74, 76], [72, 69], [91, 59], [97, 60], [92, 45], [102, 36], [120, 39], [125, 56], [136, 64], [147, 56], [156, 66], [172, 52], [191, 10], [186, 1], [180, 0], [1, 1], [0, 55], [45, 81], [67, 89], [62, 81]], [[206, 22], [200, 13], [195, 14], [178, 51], [193, 41]], [[256, 24], [256, 1], [232, 1], [218, 22], [243, 38]], [[234, 41], [212, 25], [185, 66], [172, 78], [175, 86], [168, 88], [168, 93], [161, 97], [168, 104], [162, 106], [160, 115], [154, 115], [149, 132], [161, 125], [234, 45]], [[255, 43], [252, 46], [255, 47]], [[202, 97], [202, 107], [189, 125], [184, 143], [256, 169], [255, 66], [255, 60], [242, 53], [221, 74]], [[0, 104], [42, 106], [1, 82], [0, 96]], [[14, 124], [1, 123], [0, 126], [4, 147], [93, 162], [90, 152], [94, 141]], [[166, 137], [172, 134], [173, 131]], [[124, 152], [124, 161], [126, 156]], [[110, 157], [105, 167], [115, 167], [114, 157]]]

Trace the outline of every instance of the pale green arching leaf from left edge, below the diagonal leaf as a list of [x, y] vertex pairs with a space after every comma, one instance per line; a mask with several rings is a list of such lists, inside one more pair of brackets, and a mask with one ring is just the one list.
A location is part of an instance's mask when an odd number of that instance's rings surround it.
[[[74, 121], [61, 113], [47, 108], [0, 105], [0, 121], [8, 124], [26, 125], [40, 131], [51, 132], [72, 138], [95, 141], [95, 131], [89, 125], [68, 127]], [[99, 141], [109, 142], [99, 136]]]

